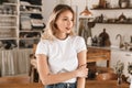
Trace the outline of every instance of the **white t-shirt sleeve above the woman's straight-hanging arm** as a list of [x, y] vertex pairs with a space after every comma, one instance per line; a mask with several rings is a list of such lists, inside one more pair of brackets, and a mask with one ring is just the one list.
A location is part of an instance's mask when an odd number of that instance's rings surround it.
[[80, 36], [76, 40], [76, 51], [77, 53], [87, 50], [85, 40]]

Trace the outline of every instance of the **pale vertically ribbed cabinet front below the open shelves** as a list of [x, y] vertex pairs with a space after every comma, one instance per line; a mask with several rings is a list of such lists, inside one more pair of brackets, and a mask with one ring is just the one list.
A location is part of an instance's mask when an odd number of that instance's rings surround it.
[[29, 56], [32, 53], [33, 51], [30, 48], [0, 51], [0, 75], [14, 76], [20, 74], [29, 74]]

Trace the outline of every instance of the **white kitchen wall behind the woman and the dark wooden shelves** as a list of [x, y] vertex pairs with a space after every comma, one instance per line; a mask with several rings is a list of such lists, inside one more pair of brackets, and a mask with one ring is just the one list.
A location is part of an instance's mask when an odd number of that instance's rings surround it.
[[[57, 3], [77, 6], [78, 16], [79, 16], [79, 13], [86, 7], [86, 0], [42, 0], [42, 1], [43, 1], [43, 15], [44, 15], [45, 23], [47, 22], [48, 15], [52, 12], [53, 8]], [[111, 7], [118, 7], [118, 0], [108, 0], [108, 1], [110, 1]], [[92, 8], [94, 4], [98, 4], [98, 2], [99, 0], [88, 0], [89, 10]], [[131, 6], [132, 6], [132, 0], [131, 0]], [[131, 10], [132, 9], [130, 10], [100, 10], [100, 11], [90, 10], [90, 11], [92, 12], [94, 16], [100, 15], [101, 13], [103, 13], [108, 18], [118, 18], [123, 12], [124, 15], [127, 15], [128, 18], [132, 18]], [[124, 36], [127, 42], [130, 42], [130, 35], [132, 35], [132, 24], [96, 24], [96, 26], [92, 29], [92, 35], [99, 35], [99, 33], [102, 32], [103, 28], [109, 33], [110, 41], [113, 46], [119, 45], [119, 40], [116, 40], [117, 34], [121, 34], [122, 36]]]

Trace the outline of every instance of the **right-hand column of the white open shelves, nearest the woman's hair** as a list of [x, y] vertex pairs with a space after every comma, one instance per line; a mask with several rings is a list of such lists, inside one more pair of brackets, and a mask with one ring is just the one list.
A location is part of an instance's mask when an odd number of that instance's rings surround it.
[[44, 26], [42, 4], [20, 0], [19, 48], [32, 48], [40, 41]]

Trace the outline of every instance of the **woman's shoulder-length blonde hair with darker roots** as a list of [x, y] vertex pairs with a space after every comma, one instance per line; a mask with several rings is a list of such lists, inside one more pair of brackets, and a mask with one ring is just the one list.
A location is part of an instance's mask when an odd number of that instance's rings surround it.
[[[54, 40], [55, 38], [54, 34], [55, 34], [55, 31], [57, 30], [57, 25], [55, 24], [55, 22], [59, 18], [61, 13], [63, 13], [67, 10], [73, 13], [73, 19], [74, 19], [74, 23], [75, 23], [75, 12], [74, 12], [74, 10], [67, 4], [58, 4], [54, 8], [53, 13], [50, 16], [50, 20], [46, 24], [44, 33], [42, 34], [42, 40]], [[73, 30], [69, 33], [69, 35], [75, 35]]]

